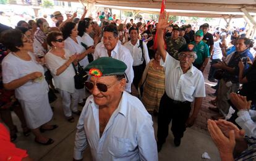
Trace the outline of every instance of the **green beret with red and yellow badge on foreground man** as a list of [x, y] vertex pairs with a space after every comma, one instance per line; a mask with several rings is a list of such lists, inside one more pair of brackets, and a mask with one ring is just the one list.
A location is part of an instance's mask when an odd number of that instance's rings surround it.
[[127, 66], [121, 60], [112, 57], [100, 57], [85, 67], [90, 75], [100, 77], [109, 75], [124, 75]]

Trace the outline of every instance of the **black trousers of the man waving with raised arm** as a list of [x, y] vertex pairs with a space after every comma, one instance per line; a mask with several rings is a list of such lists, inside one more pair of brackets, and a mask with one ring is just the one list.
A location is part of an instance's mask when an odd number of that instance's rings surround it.
[[171, 120], [173, 120], [171, 131], [173, 131], [174, 138], [183, 137], [190, 110], [191, 102], [177, 103], [170, 99], [166, 93], [163, 94], [158, 112], [157, 138], [160, 144], [163, 144], [168, 136]]

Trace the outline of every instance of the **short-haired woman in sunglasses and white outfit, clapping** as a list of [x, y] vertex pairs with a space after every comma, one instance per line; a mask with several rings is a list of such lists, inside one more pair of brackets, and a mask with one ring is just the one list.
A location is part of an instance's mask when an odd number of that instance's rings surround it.
[[[80, 111], [77, 109], [79, 89], [75, 89], [75, 70], [72, 63], [77, 65], [77, 61], [82, 60], [90, 51], [73, 54], [69, 50], [64, 49], [64, 39], [62, 33], [58, 31], [50, 32], [46, 41], [51, 46], [51, 50], [45, 55], [46, 66], [51, 71], [54, 84], [61, 94], [64, 115], [69, 122], [74, 122], [72, 113], [79, 115]], [[72, 108], [70, 108], [70, 97], [73, 101]]]

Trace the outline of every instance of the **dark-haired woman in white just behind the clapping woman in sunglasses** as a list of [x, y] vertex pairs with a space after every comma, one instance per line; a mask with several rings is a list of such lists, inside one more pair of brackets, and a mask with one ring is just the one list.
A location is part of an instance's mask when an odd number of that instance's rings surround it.
[[[89, 64], [87, 54], [94, 52], [94, 47], [89, 47], [87, 50], [82, 46], [83, 39], [78, 36], [77, 25], [74, 22], [67, 22], [61, 28], [63, 34], [65, 49], [68, 49], [71, 54], [84, 55], [83, 59], [79, 60], [79, 64], [86, 67]], [[79, 102], [83, 102], [85, 98], [85, 89], [78, 89]]]

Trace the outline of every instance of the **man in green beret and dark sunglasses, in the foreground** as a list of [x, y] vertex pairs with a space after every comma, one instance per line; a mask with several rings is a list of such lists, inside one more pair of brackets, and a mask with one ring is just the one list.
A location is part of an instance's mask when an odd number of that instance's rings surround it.
[[85, 70], [88, 97], [77, 123], [74, 160], [90, 147], [93, 160], [158, 160], [151, 115], [137, 97], [124, 91], [121, 60], [101, 57]]

